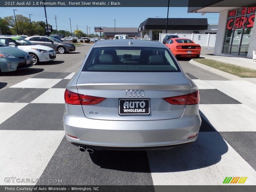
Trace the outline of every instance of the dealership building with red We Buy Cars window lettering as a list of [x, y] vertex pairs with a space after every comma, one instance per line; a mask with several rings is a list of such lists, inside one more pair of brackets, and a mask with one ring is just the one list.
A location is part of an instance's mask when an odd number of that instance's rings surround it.
[[255, 0], [230, 2], [210, 0], [208, 6], [188, 7], [188, 12], [220, 13], [214, 55], [252, 58], [256, 50]]

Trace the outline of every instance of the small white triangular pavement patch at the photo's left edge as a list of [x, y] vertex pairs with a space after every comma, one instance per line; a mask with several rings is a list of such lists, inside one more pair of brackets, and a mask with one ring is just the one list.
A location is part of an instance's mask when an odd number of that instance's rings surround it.
[[28, 105], [28, 103], [0, 103], [0, 124], [26, 105]]

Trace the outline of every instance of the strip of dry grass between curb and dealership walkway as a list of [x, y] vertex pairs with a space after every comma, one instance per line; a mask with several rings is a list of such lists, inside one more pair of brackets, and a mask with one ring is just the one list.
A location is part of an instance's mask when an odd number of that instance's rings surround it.
[[194, 59], [194, 61], [239, 77], [256, 78], [256, 70], [253, 69], [240, 67], [212, 59]]

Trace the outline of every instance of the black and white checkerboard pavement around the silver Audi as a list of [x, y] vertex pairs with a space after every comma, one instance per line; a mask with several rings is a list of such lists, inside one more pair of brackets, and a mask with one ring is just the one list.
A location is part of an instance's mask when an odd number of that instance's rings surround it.
[[[195, 143], [167, 151], [81, 153], [62, 124], [74, 73], [42, 72], [0, 90], [0, 185], [5, 177], [61, 179], [43, 185], [222, 185], [256, 179], [256, 85], [200, 80], [202, 125]], [[8, 185], [24, 183], [8, 183]]]

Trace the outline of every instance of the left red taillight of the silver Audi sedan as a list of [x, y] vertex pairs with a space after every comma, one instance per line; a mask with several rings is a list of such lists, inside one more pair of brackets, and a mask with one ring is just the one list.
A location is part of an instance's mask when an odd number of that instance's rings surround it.
[[64, 99], [67, 104], [71, 105], [96, 105], [106, 98], [78, 94], [66, 89]]

